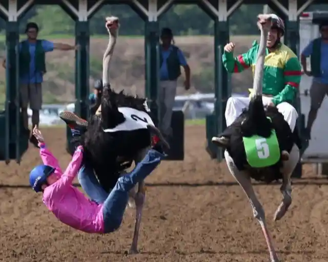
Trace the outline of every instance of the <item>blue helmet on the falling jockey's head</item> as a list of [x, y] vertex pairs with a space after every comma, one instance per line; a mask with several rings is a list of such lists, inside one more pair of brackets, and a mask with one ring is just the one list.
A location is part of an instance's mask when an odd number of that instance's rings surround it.
[[47, 165], [38, 165], [30, 172], [30, 186], [35, 192], [42, 191], [42, 185], [47, 184], [47, 178], [56, 168]]

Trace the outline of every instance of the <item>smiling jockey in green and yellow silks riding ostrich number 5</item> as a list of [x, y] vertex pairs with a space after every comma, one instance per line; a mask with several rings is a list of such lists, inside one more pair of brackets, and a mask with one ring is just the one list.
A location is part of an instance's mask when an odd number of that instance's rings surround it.
[[[301, 80], [301, 65], [294, 52], [280, 41], [285, 33], [283, 20], [275, 14], [270, 15], [272, 27], [267, 39], [267, 54], [264, 62], [263, 105], [276, 106], [294, 132], [298, 114], [292, 104]], [[252, 67], [254, 74], [258, 43], [254, 41], [252, 48], [247, 53], [236, 58], [233, 57], [234, 48], [233, 42], [224, 47], [222, 61], [227, 71], [239, 73]], [[252, 90], [250, 91], [252, 92]], [[225, 112], [227, 126], [235, 121], [249, 103], [250, 98], [248, 97], [230, 97], [228, 99]], [[219, 146], [228, 146], [230, 142], [229, 128], [213, 142]]]

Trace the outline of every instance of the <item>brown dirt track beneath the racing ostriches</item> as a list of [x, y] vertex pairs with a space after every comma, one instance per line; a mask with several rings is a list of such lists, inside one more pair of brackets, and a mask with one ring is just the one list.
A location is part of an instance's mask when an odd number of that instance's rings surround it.
[[[61, 166], [69, 156], [65, 132], [45, 129], [45, 139]], [[41, 196], [28, 185], [39, 164], [30, 148], [20, 166], [0, 164], [0, 261], [268, 261], [267, 248], [251, 207], [225, 165], [204, 152], [204, 129], [186, 130], [186, 160], [162, 163], [147, 180], [147, 203], [139, 239], [140, 254], [125, 255], [133, 234], [133, 210], [119, 231], [109, 235], [79, 233], [60, 224]], [[328, 186], [294, 180], [293, 205], [285, 218], [272, 222], [281, 200], [278, 185], [257, 185], [282, 261], [328, 261]], [[312, 177], [312, 179], [311, 179]], [[310, 178], [310, 179], [309, 179]], [[323, 185], [320, 185], [322, 184]], [[13, 187], [16, 186], [16, 187]]]

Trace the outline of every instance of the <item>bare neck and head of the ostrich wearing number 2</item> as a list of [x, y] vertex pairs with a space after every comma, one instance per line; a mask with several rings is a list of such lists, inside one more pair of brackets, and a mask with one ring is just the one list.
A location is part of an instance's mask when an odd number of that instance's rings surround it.
[[106, 17], [106, 29], [109, 33], [109, 41], [107, 49], [103, 57], [103, 84], [110, 83], [109, 78], [109, 65], [112, 59], [114, 48], [116, 45], [117, 35], [118, 35], [119, 21], [115, 16]]

